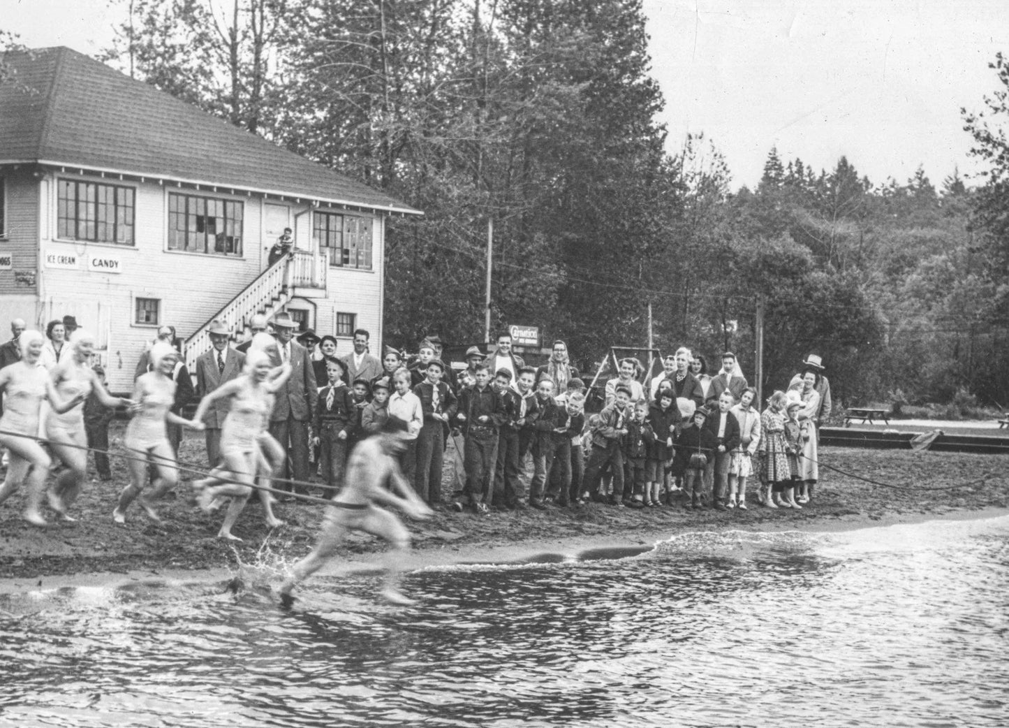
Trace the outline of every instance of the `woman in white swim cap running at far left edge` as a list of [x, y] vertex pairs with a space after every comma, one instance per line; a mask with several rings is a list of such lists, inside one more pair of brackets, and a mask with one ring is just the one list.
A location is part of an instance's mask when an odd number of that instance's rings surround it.
[[46, 525], [41, 514], [49, 456], [38, 443], [38, 425], [42, 402], [48, 401], [58, 414], [67, 412], [85, 400], [78, 392], [68, 400], [57, 392], [49, 374], [39, 363], [45, 339], [38, 331], [24, 331], [18, 339], [21, 360], [0, 370], [0, 390], [6, 394], [0, 430], [0, 446], [10, 453], [7, 477], [0, 486], [0, 503], [16, 491], [27, 478], [28, 497], [24, 520], [35, 526]]

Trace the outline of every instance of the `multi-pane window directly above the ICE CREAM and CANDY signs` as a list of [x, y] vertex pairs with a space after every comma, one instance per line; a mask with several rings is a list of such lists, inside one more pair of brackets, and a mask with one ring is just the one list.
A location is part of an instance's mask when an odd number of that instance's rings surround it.
[[57, 236], [132, 245], [134, 194], [131, 187], [60, 180]]

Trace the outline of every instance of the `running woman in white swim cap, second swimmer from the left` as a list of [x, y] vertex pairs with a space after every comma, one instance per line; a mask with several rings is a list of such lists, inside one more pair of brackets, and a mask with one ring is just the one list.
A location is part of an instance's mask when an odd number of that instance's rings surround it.
[[[92, 334], [77, 329], [71, 336], [70, 346], [70, 357], [57, 365], [51, 373], [52, 383], [61, 396], [74, 398], [80, 395], [87, 399], [94, 392], [105, 407], [128, 407], [133, 404], [126, 398], [111, 396], [88, 365], [95, 348], [95, 337]], [[60, 474], [55, 485], [48, 492], [49, 507], [65, 521], [74, 521], [67, 515], [67, 510], [77, 500], [88, 469], [84, 407], [72, 407], [64, 413], [49, 410], [45, 417], [45, 436], [52, 454], [68, 467]]]

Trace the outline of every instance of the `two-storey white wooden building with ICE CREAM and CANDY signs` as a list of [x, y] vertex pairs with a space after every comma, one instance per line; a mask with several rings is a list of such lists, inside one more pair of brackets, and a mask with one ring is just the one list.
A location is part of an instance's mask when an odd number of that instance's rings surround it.
[[385, 220], [419, 211], [70, 48], [6, 62], [0, 330], [74, 315], [118, 392], [164, 323], [191, 366], [210, 321], [241, 339], [282, 310], [377, 350]]

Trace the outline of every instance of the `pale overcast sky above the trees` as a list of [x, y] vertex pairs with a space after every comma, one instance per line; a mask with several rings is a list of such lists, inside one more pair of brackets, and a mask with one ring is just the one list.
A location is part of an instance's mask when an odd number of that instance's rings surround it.
[[[772, 145], [817, 170], [846, 154], [874, 183], [918, 165], [936, 185], [974, 169], [960, 109], [996, 88], [988, 63], [1009, 50], [1009, 0], [644, 5], [670, 150], [703, 131], [734, 187], [760, 179]], [[0, 0], [0, 28], [95, 54], [121, 12], [108, 0]]]

